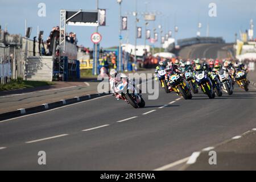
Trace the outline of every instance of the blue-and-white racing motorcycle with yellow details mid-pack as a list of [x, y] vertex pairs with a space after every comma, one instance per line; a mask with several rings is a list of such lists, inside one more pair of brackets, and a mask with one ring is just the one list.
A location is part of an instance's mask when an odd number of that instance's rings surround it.
[[212, 81], [204, 71], [196, 72], [195, 74], [197, 85], [200, 86], [202, 92], [207, 94], [209, 98], [214, 98], [215, 93], [213, 90]]

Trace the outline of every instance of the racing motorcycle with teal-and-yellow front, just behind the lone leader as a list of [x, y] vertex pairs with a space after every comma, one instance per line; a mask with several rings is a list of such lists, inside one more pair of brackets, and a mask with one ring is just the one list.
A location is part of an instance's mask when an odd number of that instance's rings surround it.
[[171, 85], [172, 90], [182, 96], [185, 100], [192, 98], [190, 88], [181, 75], [171, 75], [169, 78], [169, 84]]

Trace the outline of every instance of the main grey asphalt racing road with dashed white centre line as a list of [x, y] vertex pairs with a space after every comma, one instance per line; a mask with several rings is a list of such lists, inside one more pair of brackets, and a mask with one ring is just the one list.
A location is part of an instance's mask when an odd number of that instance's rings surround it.
[[0, 122], [0, 169], [152, 170], [256, 127], [251, 86], [214, 100], [163, 89], [158, 100], [144, 98], [143, 109], [104, 96]]

